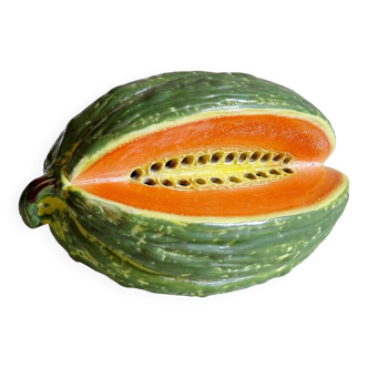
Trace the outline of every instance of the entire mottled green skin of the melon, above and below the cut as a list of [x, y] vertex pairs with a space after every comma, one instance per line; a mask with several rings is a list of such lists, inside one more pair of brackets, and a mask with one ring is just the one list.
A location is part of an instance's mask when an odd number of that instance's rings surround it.
[[[303, 214], [245, 223], [173, 223], [125, 212], [65, 188], [61, 181], [62, 172], [71, 175], [82, 159], [123, 134], [203, 111], [247, 108], [308, 113], [334, 131], [297, 92], [245, 73], [174, 72], [126, 83], [68, 123], [44, 162], [44, 173], [59, 185], [42, 190], [33, 204], [24, 190], [23, 222], [32, 228], [48, 223], [73, 259], [124, 287], [204, 297], [287, 275], [328, 237], [347, 206], [347, 186], [325, 207]], [[54, 209], [37, 211], [50, 197], [57, 198]]]

